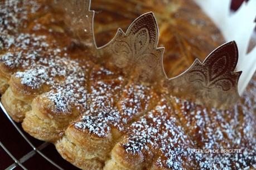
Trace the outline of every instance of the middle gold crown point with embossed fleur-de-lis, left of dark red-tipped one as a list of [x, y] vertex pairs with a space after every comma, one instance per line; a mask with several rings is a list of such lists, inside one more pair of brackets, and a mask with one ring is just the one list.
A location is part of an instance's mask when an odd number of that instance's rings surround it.
[[99, 49], [110, 56], [109, 62], [115, 66], [128, 73], [135, 71], [138, 77], [150, 80], [162, 73], [163, 48], [157, 48], [157, 43], [156, 19], [153, 13], [149, 12], [138, 17], [126, 33], [118, 29], [112, 41]]

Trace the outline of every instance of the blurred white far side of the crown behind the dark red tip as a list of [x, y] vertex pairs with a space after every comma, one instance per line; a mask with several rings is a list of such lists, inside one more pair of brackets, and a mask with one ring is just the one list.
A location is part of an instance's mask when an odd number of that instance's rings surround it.
[[243, 71], [238, 82], [241, 95], [256, 70], [256, 48], [247, 54], [250, 37], [255, 28], [256, 0], [243, 3], [235, 13], [230, 12], [231, 0], [195, 0], [215, 22], [226, 42], [238, 44], [239, 59], [236, 71]]

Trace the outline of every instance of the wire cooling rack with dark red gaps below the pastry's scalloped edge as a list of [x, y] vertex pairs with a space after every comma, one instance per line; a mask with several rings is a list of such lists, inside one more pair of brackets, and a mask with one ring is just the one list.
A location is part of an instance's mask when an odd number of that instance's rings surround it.
[[61, 158], [53, 144], [23, 131], [0, 102], [0, 169], [78, 169]]

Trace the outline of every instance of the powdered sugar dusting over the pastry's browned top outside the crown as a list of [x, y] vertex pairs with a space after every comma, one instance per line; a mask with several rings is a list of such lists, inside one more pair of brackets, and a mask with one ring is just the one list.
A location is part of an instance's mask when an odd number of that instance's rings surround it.
[[[52, 29], [40, 31], [47, 28], [44, 23], [34, 21], [32, 30], [23, 30], [43, 7], [47, 8], [36, 1], [0, 2], [0, 62], [31, 89], [50, 87], [42, 96], [51, 101], [52, 112], [69, 114], [75, 109], [83, 113], [74, 127], [98, 137], [107, 137], [112, 128], [127, 132], [120, 146], [127, 154], [142, 153], [153, 166], [256, 169], [255, 77], [230, 111], [172, 96], [167, 101], [150, 84], [133, 82], [117, 70], [84, 59], [72, 59], [67, 44]], [[161, 101], [154, 106], [158, 98]], [[233, 148], [243, 153], [194, 153], [195, 148]], [[152, 154], [153, 158], [147, 157]]]

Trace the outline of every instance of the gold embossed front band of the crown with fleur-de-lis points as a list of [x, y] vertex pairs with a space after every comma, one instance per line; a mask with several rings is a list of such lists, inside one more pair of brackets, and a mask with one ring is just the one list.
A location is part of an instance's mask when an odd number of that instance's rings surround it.
[[170, 94], [210, 107], [228, 108], [238, 99], [238, 79], [234, 72], [238, 63], [236, 43], [216, 48], [204, 62], [196, 59], [192, 66], [177, 77], [168, 79], [163, 69], [164, 48], [157, 48], [158, 26], [152, 12], [138, 17], [124, 33], [103, 47], [96, 47], [93, 33], [94, 11], [90, 1], [56, 1], [65, 9], [65, 22], [98, 62], [104, 61], [124, 72], [136, 69], [143, 81], [164, 82]]

